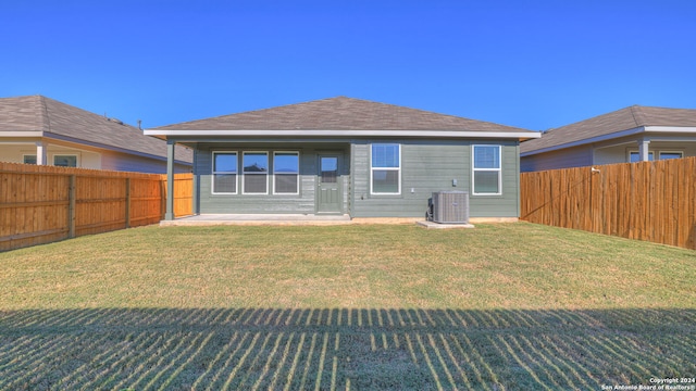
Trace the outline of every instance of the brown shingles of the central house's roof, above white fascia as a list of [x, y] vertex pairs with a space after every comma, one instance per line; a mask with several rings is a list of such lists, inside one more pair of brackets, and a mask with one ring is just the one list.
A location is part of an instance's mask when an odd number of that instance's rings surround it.
[[337, 97], [213, 118], [153, 130], [468, 130], [524, 133], [498, 125], [366, 100]]

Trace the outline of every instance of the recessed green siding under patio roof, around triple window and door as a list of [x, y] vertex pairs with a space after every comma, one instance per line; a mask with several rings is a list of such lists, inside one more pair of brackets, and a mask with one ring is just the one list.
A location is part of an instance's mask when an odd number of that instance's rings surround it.
[[[244, 151], [269, 152], [272, 165], [274, 151], [298, 151], [300, 160], [299, 194], [273, 194], [272, 176], [268, 177], [268, 194], [243, 194], [238, 179], [237, 194], [212, 193], [212, 152], [232, 151], [239, 156]], [[262, 144], [232, 144], [211, 143], [199, 144], [196, 157], [198, 186], [198, 210], [201, 214], [314, 214], [316, 197], [318, 155], [322, 152], [339, 152], [343, 157], [340, 181], [344, 191], [344, 213], [348, 211], [349, 159], [348, 144], [293, 144], [293, 143], [262, 143]], [[272, 167], [271, 167], [272, 168]], [[241, 169], [241, 166], [239, 166]], [[239, 175], [238, 175], [239, 176]], [[196, 191], [196, 190], [195, 190]]]

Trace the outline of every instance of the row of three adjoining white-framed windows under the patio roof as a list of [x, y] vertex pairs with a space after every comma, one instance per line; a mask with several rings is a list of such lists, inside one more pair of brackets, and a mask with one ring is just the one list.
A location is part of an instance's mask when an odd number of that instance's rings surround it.
[[274, 194], [299, 193], [299, 152], [274, 152], [272, 174], [270, 168], [265, 151], [241, 152], [241, 156], [237, 152], [213, 152], [212, 193], [237, 194], [241, 176], [243, 194], [268, 194], [270, 175]]

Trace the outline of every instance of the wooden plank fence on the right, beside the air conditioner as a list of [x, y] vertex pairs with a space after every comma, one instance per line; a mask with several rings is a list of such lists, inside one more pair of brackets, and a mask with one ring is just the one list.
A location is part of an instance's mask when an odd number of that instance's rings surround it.
[[696, 249], [696, 157], [523, 173], [521, 218]]

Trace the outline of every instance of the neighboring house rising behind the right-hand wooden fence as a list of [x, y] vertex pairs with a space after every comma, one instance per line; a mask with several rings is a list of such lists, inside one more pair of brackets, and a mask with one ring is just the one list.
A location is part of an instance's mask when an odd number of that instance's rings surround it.
[[696, 156], [696, 110], [634, 105], [520, 146], [522, 172]]

